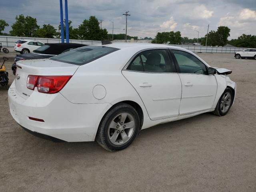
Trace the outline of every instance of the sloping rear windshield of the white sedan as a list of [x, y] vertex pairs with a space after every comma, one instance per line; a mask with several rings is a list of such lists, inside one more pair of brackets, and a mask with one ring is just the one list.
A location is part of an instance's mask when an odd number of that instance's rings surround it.
[[106, 46], [86, 46], [50, 58], [54, 61], [84, 65], [119, 49]]

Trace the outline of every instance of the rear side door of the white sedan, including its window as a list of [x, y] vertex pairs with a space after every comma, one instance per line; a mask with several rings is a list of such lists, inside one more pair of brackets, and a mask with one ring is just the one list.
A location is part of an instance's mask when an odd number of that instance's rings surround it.
[[122, 70], [144, 103], [151, 120], [178, 116], [181, 82], [167, 49], [138, 53]]

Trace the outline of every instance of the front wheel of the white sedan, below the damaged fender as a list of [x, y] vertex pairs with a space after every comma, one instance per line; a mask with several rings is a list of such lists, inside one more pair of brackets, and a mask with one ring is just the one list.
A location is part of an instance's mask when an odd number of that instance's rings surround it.
[[231, 89], [226, 88], [224, 93], [221, 95], [213, 114], [217, 116], [226, 115], [233, 104], [233, 100], [234, 96]]

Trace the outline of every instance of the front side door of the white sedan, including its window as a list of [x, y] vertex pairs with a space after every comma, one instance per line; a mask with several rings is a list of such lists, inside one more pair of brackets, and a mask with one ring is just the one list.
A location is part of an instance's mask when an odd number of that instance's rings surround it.
[[211, 109], [217, 92], [215, 76], [208, 75], [206, 65], [189, 52], [171, 51], [182, 83], [179, 114]]

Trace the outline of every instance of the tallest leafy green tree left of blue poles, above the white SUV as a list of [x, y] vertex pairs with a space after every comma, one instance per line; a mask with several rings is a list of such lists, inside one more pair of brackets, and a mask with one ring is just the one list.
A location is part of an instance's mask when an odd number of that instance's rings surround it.
[[10, 34], [12, 36], [26, 36], [32, 37], [35, 32], [40, 28], [37, 25], [36, 18], [32, 18], [30, 16], [24, 17], [24, 15], [16, 16], [16, 22], [12, 24], [12, 30]]

